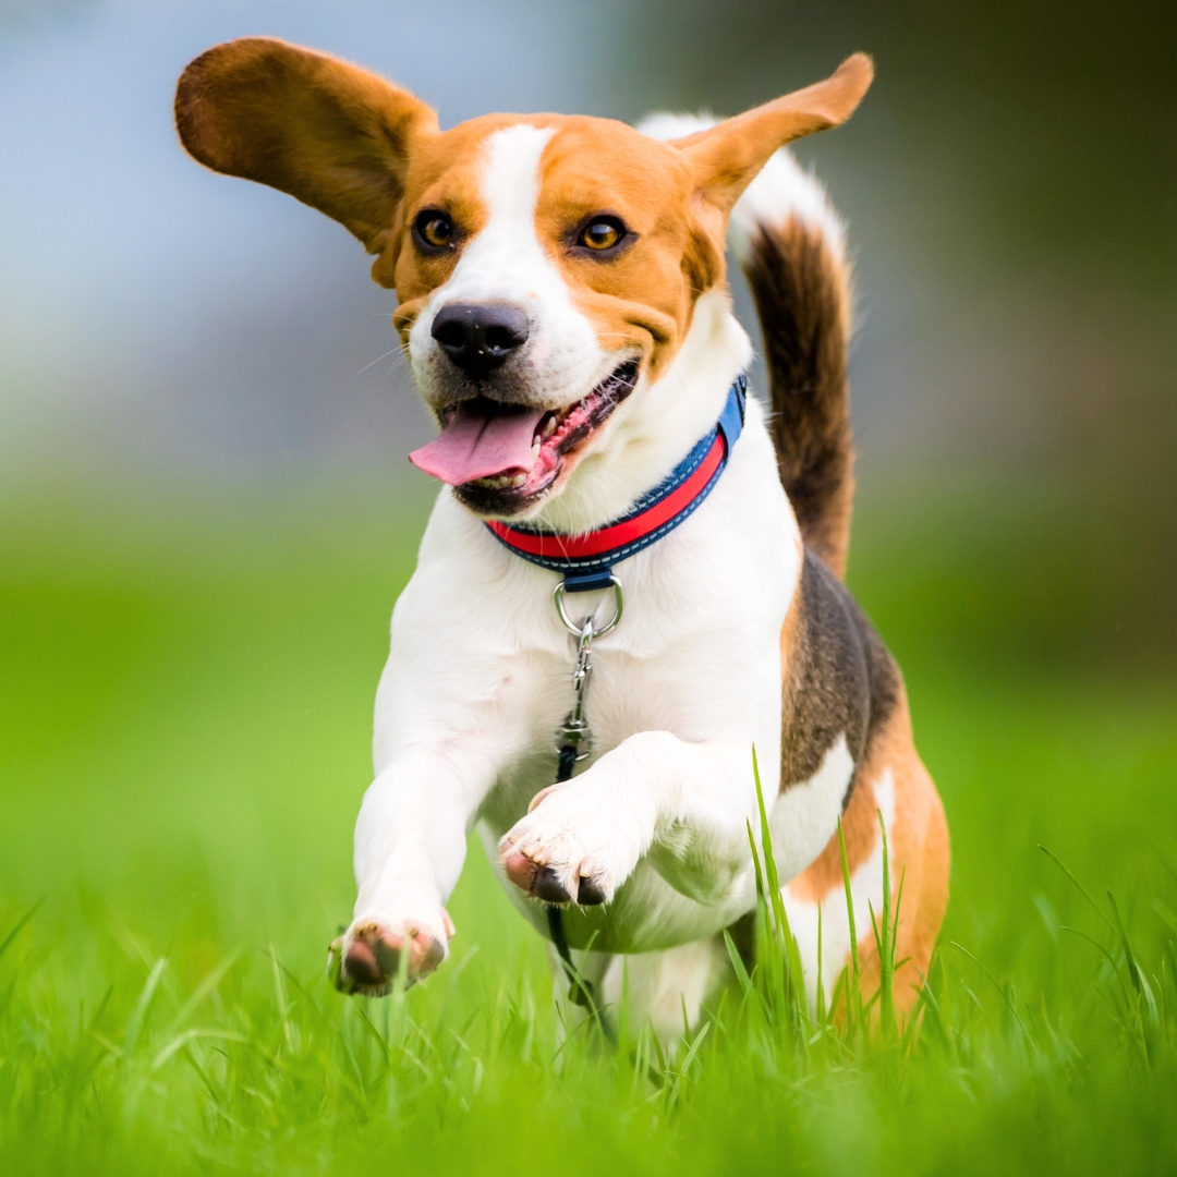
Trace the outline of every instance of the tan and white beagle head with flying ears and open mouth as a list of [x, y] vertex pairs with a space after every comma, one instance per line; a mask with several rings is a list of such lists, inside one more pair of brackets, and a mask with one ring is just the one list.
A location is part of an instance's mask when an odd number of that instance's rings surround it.
[[175, 111], [202, 164], [291, 193], [375, 254], [441, 425], [413, 460], [480, 514], [519, 517], [666, 371], [697, 300], [724, 282], [727, 214], [770, 155], [843, 122], [871, 77], [856, 54], [670, 142], [554, 114], [443, 132], [372, 73], [251, 38], [197, 58]]

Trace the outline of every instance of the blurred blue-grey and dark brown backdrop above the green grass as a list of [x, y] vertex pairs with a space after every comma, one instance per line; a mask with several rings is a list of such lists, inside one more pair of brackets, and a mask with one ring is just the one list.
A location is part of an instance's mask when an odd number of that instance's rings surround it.
[[431, 493], [405, 463], [430, 425], [394, 299], [360, 247], [178, 146], [177, 74], [250, 33], [383, 71], [443, 125], [498, 109], [733, 113], [873, 53], [853, 121], [798, 147], [857, 257], [862, 507], [916, 483], [917, 504], [966, 490], [965, 516], [1015, 486], [1037, 496], [1033, 519], [1003, 526], [1050, 553], [991, 553], [1065, 565], [1042, 590], [1057, 600], [1030, 609], [1049, 633], [1023, 640], [1172, 664], [1172, 5], [452, 0], [438, 16], [387, 0], [4, 0], [9, 496], [68, 484], [85, 499], [195, 500], [312, 473]]

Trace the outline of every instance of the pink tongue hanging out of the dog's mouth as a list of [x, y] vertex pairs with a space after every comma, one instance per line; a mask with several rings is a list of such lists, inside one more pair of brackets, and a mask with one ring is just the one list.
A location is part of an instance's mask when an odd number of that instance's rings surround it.
[[451, 486], [512, 471], [528, 474], [536, 465], [531, 444], [544, 412], [464, 400], [441, 435], [414, 450], [408, 460]]

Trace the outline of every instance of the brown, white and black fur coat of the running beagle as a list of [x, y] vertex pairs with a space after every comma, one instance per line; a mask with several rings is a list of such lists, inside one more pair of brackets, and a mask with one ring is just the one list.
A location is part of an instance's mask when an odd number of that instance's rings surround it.
[[[477, 825], [540, 931], [537, 893], [603, 900], [566, 909], [573, 947], [592, 938], [583, 971], [613, 1002], [627, 962], [633, 1016], [672, 1033], [723, 978], [724, 929], [754, 906], [754, 745], [811, 985], [819, 909], [827, 985], [850, 947], [838, 818], [865, 913], [867, 902], [880, 907], [882, 812], [891, 878], [904, 878], [896, 991], [910, 1008], [947, 898], [947, 832], [899, 672], [842, 585], [852, 492], [843, 230], [783, 151], [849, 118], [871, 77], [858, 54], [737, 118], [663, 118], [646, 134], [553, 114], [443, 132], [390, 82], [266, 39], [221, 45], [185, 71], [177, 119], [198, 160], [295, 195], [375, 255], [444, 428], [543, 423], [533, 466], [440, 494], [397, 603], [375, 779], [355, 830], [348, 988], [386, 992], [404, 951], [412, 979], [444, 960], [445, 904]], [[553, 785], [572, 669], [556, 578], [483, 520], [600, 526], [713, 426], [752, 354], [725, 280], [729, 222], [764, 328], [771, 410], [749, 401], [706, 503], [617, 566], [626, 607], [594, 650], [596, 753]], [[514, 325], [496, 337], [491, 367], [471, 361], [474, 335], [459, 351], [441, 330], [455, 306]], [[870, 969], [869, 931], [860, 949]]]

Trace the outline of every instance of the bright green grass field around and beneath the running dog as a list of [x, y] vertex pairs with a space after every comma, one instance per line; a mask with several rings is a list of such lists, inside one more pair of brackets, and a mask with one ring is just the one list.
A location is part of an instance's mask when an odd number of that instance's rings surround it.
[[1177, 684], [1105, 657], [1065, 505], [982, 491], [856, 532], [953, 838], [920, 1035], [811, 1018], [778, 955], [672, 1059], [624, 1011], [565, 1040], [477, 846], [438, 976], [326, 983], [418, 500], [9, 496], [0, 1172], [1177, 1168]]

